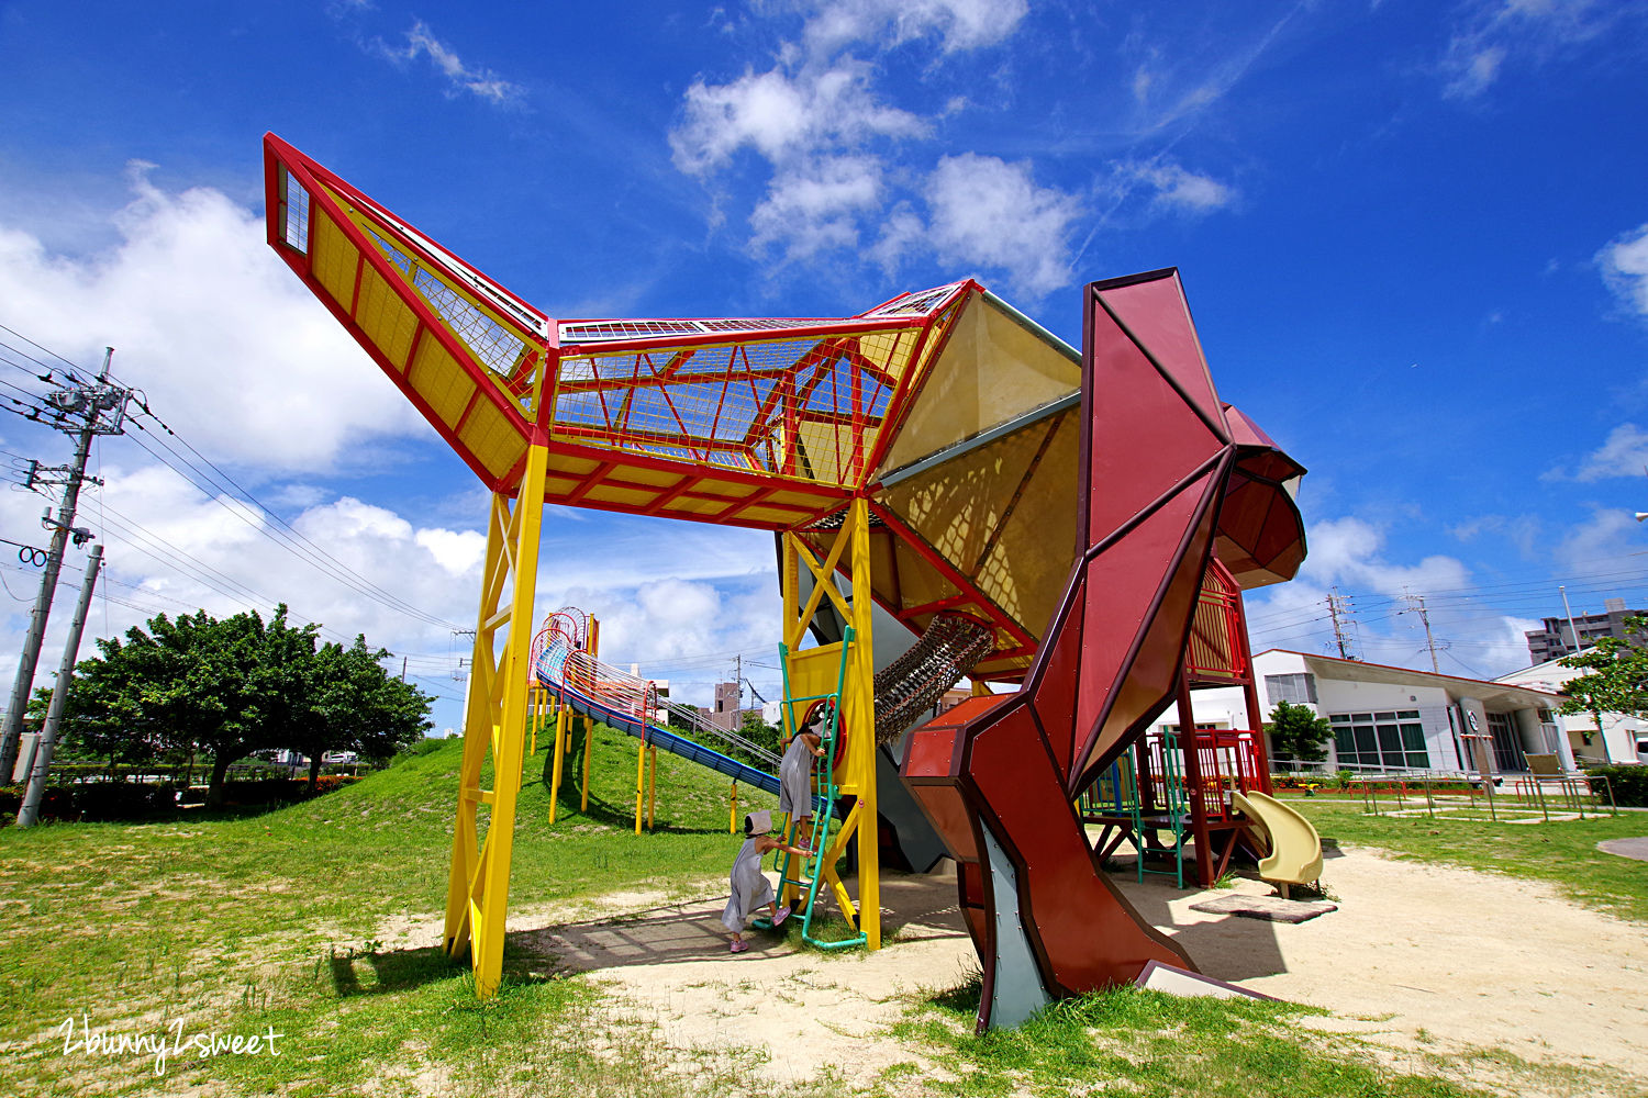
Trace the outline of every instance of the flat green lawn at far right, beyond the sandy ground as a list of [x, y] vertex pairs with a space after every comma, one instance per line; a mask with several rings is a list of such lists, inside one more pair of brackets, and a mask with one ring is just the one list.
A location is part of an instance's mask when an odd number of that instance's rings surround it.
[[[1544, 881], [1592, 910], [1648, 922], [1645, 863], [1605, 854], [1597, 843], [1648, 835], [1648, 813], [1622, 812], [1597, 820], [1493, 823], [1437, 817], [1371, 817], [1360, 802], [1290, 798], [1323, 840], [1376, 846], [1399, 859]], [[1409, 808], [1424, 800], [1409, 802]]]

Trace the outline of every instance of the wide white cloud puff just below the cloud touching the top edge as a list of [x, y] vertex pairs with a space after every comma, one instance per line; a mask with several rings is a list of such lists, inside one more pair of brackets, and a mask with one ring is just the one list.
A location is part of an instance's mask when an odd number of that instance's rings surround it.
[[704, 174], [751, 148], [773, 165], [870, 137], [918, 137], [928, 125], [877, 100], [867, 64], [844, 59], [798, 74], [745, 72], [730, 84], [694, 81], [686, 120], [669, 135], [676, 166]]

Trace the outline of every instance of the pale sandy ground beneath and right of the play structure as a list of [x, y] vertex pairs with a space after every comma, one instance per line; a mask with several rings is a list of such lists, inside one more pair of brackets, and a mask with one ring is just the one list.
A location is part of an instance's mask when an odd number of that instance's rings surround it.
[[[1340, 910], [1284, 925], [1190, 910], [1226, 892], [1119, 884], [1210, 976], [1333, 1012], [1307, 1024], [1399, 1050], [1496, 1045], [1648, 1080], [1648, 935], [1547, 886], [1345, 849], [1323, 871]], [[720, 896], [651, 907], [641, 894], [603, 897], [592, 919], [522, 912], [511, 932], [547, 963], [592, 973], [674, 1047], [765, 1049], [775, 1080], [824, 1067], [867, 1080], [913, 1058], [882, 1035], [908, 996], [976, 966], [954, 887], [946, 871], [883, 879], [878, 953], [821, 956], [753, 932], [751, 948], [730, 955]]]

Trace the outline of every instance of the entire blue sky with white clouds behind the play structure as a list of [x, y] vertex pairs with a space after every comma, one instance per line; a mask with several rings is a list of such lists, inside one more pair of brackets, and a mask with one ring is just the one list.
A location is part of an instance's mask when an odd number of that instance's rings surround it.
[[[483, 10], [0, 5], [5, 357], [112, 344], [176, 431], [97, 451], [92, 632], [285, 599], [458, 724], [485, 497], [262, 244], [265, 130], [552, 316], [849, 314], [971, 275], [1079, 342], [1083, 283], [1177, 265], [1224, 398], [1310, 468], [1312, 556], [1251, 598], [1256, 647], [1330, 650], [1338, 588], [1358, 655], [1427, 665], [1411, 593], [1442, 670], [1493, 677], [1559, 584], [1648, 606], [1643, 3]], [[157, 461], [178, 440], [234, 486]], [[15, 416], [0, 449], [69, 456]], [[43, 543], [43, 505], [0, 494], [0, 537]], [[15, 652], [35, 579], [0, 578]], [[776, 688], [766, 535], [557, 512], [562, 603], [677, 696], [740, 652]]]

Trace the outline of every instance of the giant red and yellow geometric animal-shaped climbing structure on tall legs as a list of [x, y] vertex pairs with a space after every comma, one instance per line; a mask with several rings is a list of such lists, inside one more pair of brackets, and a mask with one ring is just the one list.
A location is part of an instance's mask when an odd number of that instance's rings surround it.
[[[1103, 881], [1073, 802], [1175, 691], [1193, 728], [1187, 668], [1243, 649], [1203, 637], [1201, 593], [1294, 575], [1304, 469], [1218, 400], [1175, 272], [1089, 286], [1081, 352], [972, 280], [845, 318], [555, 321], [280, 138], [264, 148], [270, 247], [493, 494], [445, 927], [480, 994], [503, 955], [545, 502], [780, 535], [784, 677], [791, 700], [836, 690], [829, 844], [860, 836], [857, 894], [836, 899], [867, 948], [878, 741], [903, 736], [903, 782], [961, 863], [981, 1026], [1149, 960], [1188, 966]], [[873, 635], [872, 607], [898, 637]], [[877, 645], [911, 637], [878, 708]], [[605, 706], [606, 673], [567, 667], [562, 695]], [[1023, 686], [898, 728], [964, 673]], [[633, 713], [606, 708], [653, 742], [628, 688]]]

